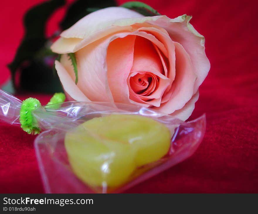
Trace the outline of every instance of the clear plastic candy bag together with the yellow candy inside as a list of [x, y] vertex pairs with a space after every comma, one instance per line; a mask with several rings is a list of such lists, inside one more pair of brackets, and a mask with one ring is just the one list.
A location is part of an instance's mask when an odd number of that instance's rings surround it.
[[[1, 120], [18, 124], [21, 101], [0, 93]], [[119, 103], [65, 102], [37, 108], [33, 116], [43, 130], [34, 147], [46, 193], [122, 192], [190, 157], [206, 127], [205, 115], [184, 122], [151, 108]], [[130, 132], [142, 117], [144, 123]], [[97, 121], [109, 122], [109, 118], [115, 122], [108, 126]], [[164, 129], [170, 134], [168, 146], [163, 146]], [[118, 132], [118, 140], [116, 135], [107, 137], [113, 131]], [[141, 136], [143, 132], [147, 138]], [[129, 139], [126, 145], [123, 137]]]

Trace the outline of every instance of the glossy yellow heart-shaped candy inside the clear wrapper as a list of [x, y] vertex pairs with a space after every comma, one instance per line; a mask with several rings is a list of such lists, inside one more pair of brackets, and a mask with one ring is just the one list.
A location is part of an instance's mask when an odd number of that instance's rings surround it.
[[116, 187], [144, 164], [163, 157], [168, 128], [138, 115], [94, 118], [69, 131], [65, 148], [74, 173], [90, 186]]

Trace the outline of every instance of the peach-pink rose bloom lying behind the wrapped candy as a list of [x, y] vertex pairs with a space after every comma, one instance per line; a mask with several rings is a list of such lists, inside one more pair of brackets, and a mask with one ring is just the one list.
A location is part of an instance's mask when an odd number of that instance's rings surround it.
[[69, 99], [134, 103], [186, 120], [210, 69], [204, 37], [190, 19], [145, 17], [123, 7], [85, 16], [51, 47], [63, 54], [55, 67]]

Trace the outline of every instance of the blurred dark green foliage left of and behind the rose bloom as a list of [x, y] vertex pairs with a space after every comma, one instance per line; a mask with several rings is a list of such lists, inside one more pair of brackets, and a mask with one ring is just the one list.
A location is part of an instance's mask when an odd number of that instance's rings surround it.
[[[61, 55], [53, 53], [49, 46], [50, 42], [45, 35], [47, 20], [51, 14], [59, 7], [65, 5], [65, 0], [51, 0], [43, 2], [31, 8], [24, 16], [25, 35], [18, 47], [15, 58], [8, 67], [11, 71], [12, 81], [15, 89], [14, 79], [17, 70], [21, 72], [19, 90], [54, 93], [62, 91], [60, 80], [56, 75], [56, 70], [49, 62], [60, 60]], [[64, 30], [80, 18], [101, 8], [116, 6], [114, 0], [78, 0], [68, 9], [65, 18], [60, 23], [61, 30]], [[71, 57], [71, 56], [70, 56]], [[75, 57], [72, 58], [76, 83], [78, 81]], [[48, 62], [48, 63], [47, 63]], [[54, 72], [53, 72], [54, 71]]]

